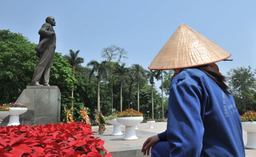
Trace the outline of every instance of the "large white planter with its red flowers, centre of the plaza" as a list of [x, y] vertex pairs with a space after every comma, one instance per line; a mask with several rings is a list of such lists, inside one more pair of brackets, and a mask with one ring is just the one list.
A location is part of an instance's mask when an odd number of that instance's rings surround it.
[[135, 125], [143, 121], [143, 114], [133, 109], [126, 109], [117, 114], [117, 123], [125, 126], [125, 136], [123, 140], [137, 140]]

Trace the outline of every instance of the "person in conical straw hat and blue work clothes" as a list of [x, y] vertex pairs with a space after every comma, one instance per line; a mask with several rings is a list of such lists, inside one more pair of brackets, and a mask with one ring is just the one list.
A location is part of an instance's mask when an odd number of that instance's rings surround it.
[[231, 54], [182, 24], [151, 62], [151, 70], [175, 70], [165, 132], [142, 146], [151, 157], [245, 157], [241, 119], [214, 62]]

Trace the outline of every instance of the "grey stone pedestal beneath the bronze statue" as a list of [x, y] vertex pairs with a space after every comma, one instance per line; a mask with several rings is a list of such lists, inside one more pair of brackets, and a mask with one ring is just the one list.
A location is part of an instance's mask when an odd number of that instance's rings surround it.
[[[16, 103], [26, 104], [28, 111], [20, 114], [20, 124], [60, 123], [61, 92], [57, 86], [27, 86]], [[1, 126], [9, 122], [6, 117]]]

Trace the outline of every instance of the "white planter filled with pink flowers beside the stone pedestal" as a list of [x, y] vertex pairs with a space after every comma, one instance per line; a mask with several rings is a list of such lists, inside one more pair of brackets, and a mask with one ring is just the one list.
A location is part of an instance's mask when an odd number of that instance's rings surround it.
[[28, 106], [26, 104], [20, 104], [20, 103], [9, 103], [9, 104], [3, 104], [3, 106], [6, 106], [10, 109], [10, 119], [7, 126], [11, 125], [19, 125], [20, 119], [19, 115], [27, 112]]

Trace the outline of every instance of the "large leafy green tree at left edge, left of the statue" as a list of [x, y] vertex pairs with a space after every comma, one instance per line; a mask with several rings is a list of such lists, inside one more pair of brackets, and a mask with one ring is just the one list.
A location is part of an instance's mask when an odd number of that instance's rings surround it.
[[35, 47], [21, 33], [0, 30], [0, 104], [15, 102], [30, 85], [39, 60]]

